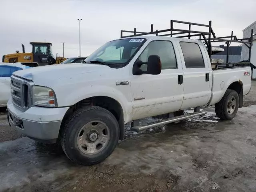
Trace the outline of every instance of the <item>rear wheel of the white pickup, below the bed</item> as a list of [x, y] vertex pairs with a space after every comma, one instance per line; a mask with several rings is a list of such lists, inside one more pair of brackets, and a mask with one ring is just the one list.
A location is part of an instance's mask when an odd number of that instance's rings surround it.
[[231, 120], [236, 116], [238, 107], [238, 93], [234, 90], [228, 89], [220, 102], [215, 104], [215, 112], [220, 119]]

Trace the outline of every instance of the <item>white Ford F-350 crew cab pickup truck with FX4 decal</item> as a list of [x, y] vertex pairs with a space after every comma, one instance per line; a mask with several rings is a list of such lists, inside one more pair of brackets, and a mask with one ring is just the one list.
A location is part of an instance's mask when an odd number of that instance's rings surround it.
[[[84, 64], [40, 66], [11, 76], [9, 120], [22, 134], [60, 142], [70, 160], [84, 165], [107, 158], [132, 130], [204, 115], [199, 106], [215, 104], [231, 120], [251, 88], [248, 65], [212, 70], [201, 41], [136, 36], [107, 42]], [[195, 108], [194, 113], [172, 112]], [[138, 120], [170, 114], [163, 122]]]

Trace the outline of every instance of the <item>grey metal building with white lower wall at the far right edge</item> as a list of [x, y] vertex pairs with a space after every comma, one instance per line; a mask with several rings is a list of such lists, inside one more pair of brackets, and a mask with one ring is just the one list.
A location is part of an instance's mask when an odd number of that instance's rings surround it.
[[[253, 29], [254, 35], [253, 35], [253, 44], [252, 44], [252, 54], [251, 54], [251, 63], [256, 66], [256, 21], [252, 24], [250, 24], [248, 27], [246, 27], [243, 30], [243, 38], [250, 38], [251, 36], [251, 30]], [[241, 54], [241, 60], [248, 60], [249, 55], [249, 49], [242, 45], [242, 54]], [[256, 78], [256, 69], [253, 70], [252, 78]]]

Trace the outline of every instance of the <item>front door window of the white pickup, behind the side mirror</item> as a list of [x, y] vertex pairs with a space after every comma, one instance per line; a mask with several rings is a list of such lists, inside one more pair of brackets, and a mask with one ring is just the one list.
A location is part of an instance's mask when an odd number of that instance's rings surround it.
[[[177, 68], [174, 48], [170, 41], [153, 41], [148, 44], [138, 60], [148, 62], [150, 55], [160, 56], [162, 62], [162, 69]], [[142, 70], [146, 71], [146, 65], [142, 65]]]

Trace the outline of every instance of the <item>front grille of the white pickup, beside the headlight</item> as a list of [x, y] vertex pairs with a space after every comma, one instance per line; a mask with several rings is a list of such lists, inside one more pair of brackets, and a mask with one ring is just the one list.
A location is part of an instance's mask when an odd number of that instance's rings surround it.
[[26, 110], [31, 106], [31, 88], [33, 82], [11, 76], [11, 95], [12, 102], [21, 108]]

